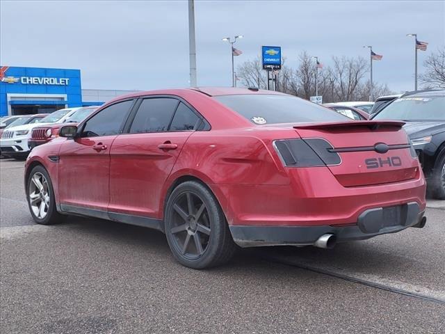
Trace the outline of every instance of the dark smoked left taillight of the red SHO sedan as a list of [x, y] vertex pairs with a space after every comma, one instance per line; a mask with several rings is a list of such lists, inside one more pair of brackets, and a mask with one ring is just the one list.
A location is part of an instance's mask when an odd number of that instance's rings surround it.
[[337, 152], [330, 152], [332, 145], [322, 138], [284, 139], [274, 141], [275, 150], [284, 166], [316, 167], [341, 163]]

